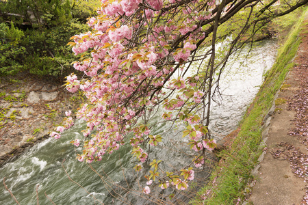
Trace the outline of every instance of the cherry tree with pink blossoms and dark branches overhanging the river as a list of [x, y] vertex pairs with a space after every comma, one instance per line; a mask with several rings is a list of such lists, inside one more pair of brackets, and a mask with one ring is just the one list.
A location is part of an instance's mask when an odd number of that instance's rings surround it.
[[[164, 172], [149, 162], [147, 185], [185, 190], [194, 180], [193, 167], [205, 163], [205, 152], [216, 148], [209, 130], [212, 98], [229, 57], [272, 18], [288, 14], [307, 0], [278, 4], [277, 0], [102, 0], [91, 31], [71, 38], [74, 68], [69, 92], [81, 90], [88, 99], [77, 112], [87, 122], [79, 161], [101, 161], [125, 143], [136, 157], [136, 171], [149, 159], [151, 146], [164, 136], [151, 133], [150, 121], [162, 111], [163, 122], [184, 124], [183, 137], [194, 159], [178, 172]], [[229, 40], [227, 40], [227, 37]], [[231, 39], [231, 40], [230, 40]], [[192, 69], [194, 68], [194, 69]], [[70, 112], [64, 126], [51, 133], [60, 137], [73, 125]], [[129, 137], [129, 135], [133, 137]], [[139, 161], [139, 163], [138, 163]], [[144, 184], [144, 193], [150, 188]]]

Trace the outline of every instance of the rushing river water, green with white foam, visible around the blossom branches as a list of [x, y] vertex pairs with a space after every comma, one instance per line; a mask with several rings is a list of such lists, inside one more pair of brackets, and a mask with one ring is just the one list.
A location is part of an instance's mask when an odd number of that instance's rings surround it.
[[[253, 49], [253, 58], [248, 58], [247, 62], [247, 51], [243, 51], [242, 55], [235, 57], [236, 60], [231, 61], [224, 70], [220, 83], [222, 100], [218, 100], [216, 105], [214, 103], [211, 109], [210, 128], [217, 139], [237, 126], [246, 106], [257, 93], [263, 74], [274, 62], [275, 43], [274, 40], [262, 41], [261, 46]], [[252, 60], [253, 62], [248, 62]], [[239, 61], [246, 66], [239, 66]], [[149, 167], [144, 167], [141, 174], [136, 174], [133, 170], [136, 161], [131, 156], [130, 146], [124, 146], [111, 155], [105, 155], [102, 161], [92, 163], [97, 173], [86, 163], [79, 163], [75, 159], [81, 148], [74, 148], [70, 141], [75, 138], [82, 139], [80, 131], [84, 126], [84, 123], [78, 122], [68, 132], [64, 132], [60, 139], [48, 139], [38, 143], [15, 161], [0, 168], [0, 178], [5, 177], [5, 184], [14, 193], [16, 200], [20, 204], [35, 204], [37, 189], [40, 204], [51, 204], [45, 194], [55, 204], [153, 204], [151, 200], [155, 198], [140, 194], [146, 182], [143, 176]], [[163, 133], [168, 127], [168, 124], [155, 124], [151, 130], [155, 135]], [[151, 159], [164, 159], [168, 162], [162, 163], [162, 168], [170, 171], [177, 169], [183, 161], [189, 160], [192, 154], [183, 148], [183, 139], [181, 134], [177, 133], [177, 129], [173, 129], [164, 135], [162, 146], [155, 148], [154, 154], [151, 155]], [[198, 178], [209, 174], [207, 169], [199, 171], [202, 172], [196, 173]], [[152, 193], [157, 198], [163, 198], [175, 191], [153, 189]], [[183, 202], [189, 200], [189, 197], [183, 195], [176, 197]], [[10, 193], [1, 186], [0, 204], [14, 203]]]

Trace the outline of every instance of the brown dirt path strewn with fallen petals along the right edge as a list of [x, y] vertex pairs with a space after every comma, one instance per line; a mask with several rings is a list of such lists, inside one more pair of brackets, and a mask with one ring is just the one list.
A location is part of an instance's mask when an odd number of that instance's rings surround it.
[[308, 15], [303, 25], [294, 68], [275, 101], [254, 205], [308, 204]]

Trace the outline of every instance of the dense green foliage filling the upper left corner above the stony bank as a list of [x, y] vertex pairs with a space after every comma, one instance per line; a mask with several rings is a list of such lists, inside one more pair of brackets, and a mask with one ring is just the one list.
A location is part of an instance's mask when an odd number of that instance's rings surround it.
[[[0, 74], [64, 77], [75, 56], [70, 36], [86, 31], [84, 22], [99, 1], [17, 1], [0, 6]], [[89, 3], [92, 3], [89, 5]]]

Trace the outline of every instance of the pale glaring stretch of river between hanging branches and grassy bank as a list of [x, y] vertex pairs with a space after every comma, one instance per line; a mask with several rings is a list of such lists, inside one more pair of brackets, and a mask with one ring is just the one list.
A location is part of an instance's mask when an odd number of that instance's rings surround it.
[[210, 130], [216, 139], [222, 139], [233, 131], [247, 105], [255, 97], [259, 86], [264, 80], [264, 74], [272, 68], [277, 53], [276, 40], [262, 40], [257, 42], [251, 53], [246, 47], [229, 61], [227, 68], [222, 72], [218, 102], [211, 107]]

